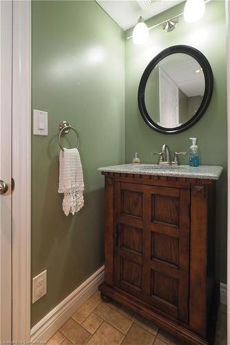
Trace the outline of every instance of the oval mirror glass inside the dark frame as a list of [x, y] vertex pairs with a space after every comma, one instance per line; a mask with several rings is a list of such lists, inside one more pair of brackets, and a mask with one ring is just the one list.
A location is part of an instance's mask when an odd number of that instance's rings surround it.
[[182, 126], [200, 108], [204, 73], [190, 55], [168, 55], [153, 68], [146, 82], [144, 101], [148, 115], [164, 128]]

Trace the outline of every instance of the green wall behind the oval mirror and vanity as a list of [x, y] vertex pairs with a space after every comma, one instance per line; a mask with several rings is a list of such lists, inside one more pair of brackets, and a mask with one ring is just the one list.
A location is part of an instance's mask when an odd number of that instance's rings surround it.
[[[184, 3], [146, 21], [148, 26], [159, 23], [183, 11]], [[151, 155], [169, 145], [172, 151], [189, 148], [189, 137], [198, 137], [201, 163], [224, 166], [218, 181], [217, 193], [217, 275], [226, 282], [227, 274], [227, 90], [226, 90], [226, 34], [224, 1], [207, 3], [204, 18], [196, 23], [184, 23], [180, 17], [178, 27], [164, 32], [161, 26], [150, 31], [150, 39], [144, 46], [126, 39], [125, 62], [125, 144], [126, 162], [131, 162], [138, 152], [144, 163], [155, 163]], [[126, 32], [130, 36], [131, 30]], [[162, 135], [149, 128], [137, 106], [137, 88], [144, 68], [158, 52], [169, 46], [186, 44], [198, 48], [207, 57], [213, 69], [214, 90], [207, 112], [189, 130], [178, 135]], [[188, 164], [188, 157], [181, 158]]]

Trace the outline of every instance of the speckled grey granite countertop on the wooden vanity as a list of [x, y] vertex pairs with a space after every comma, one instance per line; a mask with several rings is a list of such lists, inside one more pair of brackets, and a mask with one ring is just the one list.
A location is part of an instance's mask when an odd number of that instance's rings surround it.
[[122, 164], [104, 166], [98, 169], [104, 172], [121, 172], [126, 174], [161, 175], [171, 177], [190, 177], [191, 179], [219, 179], [222, 166], [159, 166], [157, 164]]

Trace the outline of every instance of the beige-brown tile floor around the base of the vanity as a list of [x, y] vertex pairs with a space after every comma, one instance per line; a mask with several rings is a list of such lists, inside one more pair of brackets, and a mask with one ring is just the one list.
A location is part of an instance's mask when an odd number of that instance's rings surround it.
[[[116, 302], [105, 304], [97, 291], [47, 344], [182, 345], [184, 342]], [[227, 308], [223, 304], [219, 308], [215, 344], [227, 345]]]

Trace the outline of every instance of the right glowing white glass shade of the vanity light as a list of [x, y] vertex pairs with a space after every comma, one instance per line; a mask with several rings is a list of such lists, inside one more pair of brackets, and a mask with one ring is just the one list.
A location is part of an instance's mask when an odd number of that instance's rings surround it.
[[184, 6], [184, 21], [193, 23], [201, 19], [205, 12], [204, 0], [187, 0]]

